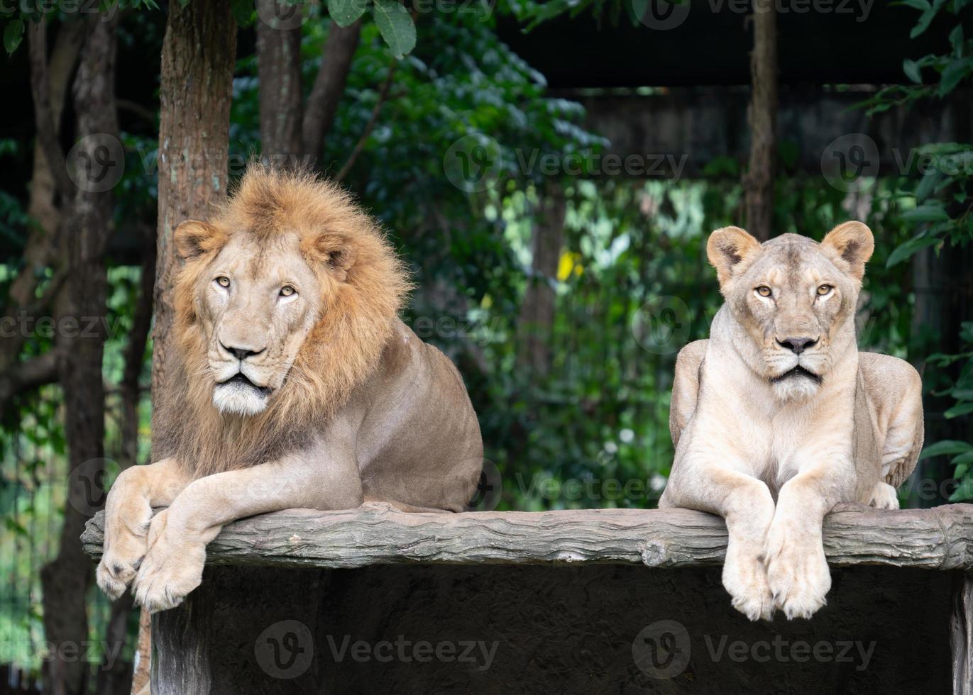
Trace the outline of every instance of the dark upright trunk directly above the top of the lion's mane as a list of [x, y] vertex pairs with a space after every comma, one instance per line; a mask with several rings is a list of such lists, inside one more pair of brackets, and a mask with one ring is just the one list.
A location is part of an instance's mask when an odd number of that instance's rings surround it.
[[[259, 17], [279, 17], [278, 0], [258, 0]], [[291, 7], [293, 11], [293, 7]], [[299, 8], [300, 10], [300, 8]], [[265, 160], [294, 166], [301, 154], [301, 26], [257, 20], [260, 140]]]

